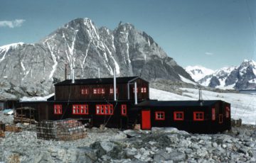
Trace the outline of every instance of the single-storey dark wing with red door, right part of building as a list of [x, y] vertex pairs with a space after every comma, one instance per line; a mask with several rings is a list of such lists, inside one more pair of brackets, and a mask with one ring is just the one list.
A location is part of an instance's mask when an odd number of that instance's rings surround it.
[[142, 129], [174, 127], [191, 133], [230, 130], [230, 103], [224, 101], [144, 101], [134, 114]]

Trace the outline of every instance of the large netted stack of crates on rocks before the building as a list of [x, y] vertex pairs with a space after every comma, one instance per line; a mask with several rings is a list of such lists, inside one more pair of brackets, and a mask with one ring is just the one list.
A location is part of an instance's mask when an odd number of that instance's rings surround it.
[[36, 135], [43, 140], [78, 140], [86, 137], [86, 130], [78, 120], [43, 120], [36, 124]]

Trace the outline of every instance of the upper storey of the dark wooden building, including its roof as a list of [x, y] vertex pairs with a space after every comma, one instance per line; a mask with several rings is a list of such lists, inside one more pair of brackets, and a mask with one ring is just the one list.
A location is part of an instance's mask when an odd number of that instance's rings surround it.
[[[137, 99], [149, 99], [149, 82], [139, 77], [117, 77], [117, 100], [134, 100], [134, 82]], [[65, 80], [55, 84], [55, 101], [113, 101], [113, 78]]]

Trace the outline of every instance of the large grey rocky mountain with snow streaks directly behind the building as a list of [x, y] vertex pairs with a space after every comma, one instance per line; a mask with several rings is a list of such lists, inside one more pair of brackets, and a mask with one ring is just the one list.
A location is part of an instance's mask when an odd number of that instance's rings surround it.
[[38, 43], [14, 43], [0, 47], [0, 86], [10, 94], [46, 95], [53, 83], [65, 79], [75, 69], [75, 77], [139, 76], [148, 81], [181, 81], [191, 76], [146, 33], [130, 23], [114, 30], [97, 28], [89, 18], [76, 18], [50, 33]]

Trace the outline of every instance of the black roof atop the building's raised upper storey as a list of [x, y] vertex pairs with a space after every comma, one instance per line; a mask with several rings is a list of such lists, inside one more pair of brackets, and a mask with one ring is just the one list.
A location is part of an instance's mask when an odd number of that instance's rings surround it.
[[[117, 84], [127, 84], [129, 81], [134, 81], [135, 79], [141, 79], [140, 77], [117, 77]], [[87, 84], [113, 84], [113, 78], [91, 78], [91, 79], [75, 79], [74, 85], [87, 85]], [[147, 82], [147, 81], [146, 81]], [[67, 79], [65, 81], [61, 81], [55, 86], [63, 86], [63, 85], [71, 85], [72, 80]]]

